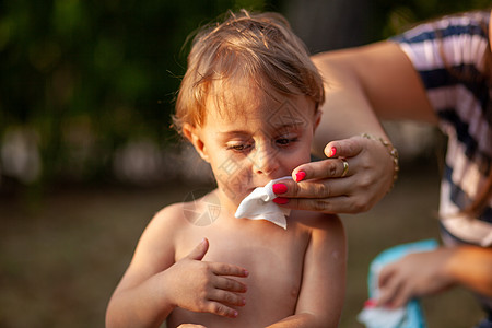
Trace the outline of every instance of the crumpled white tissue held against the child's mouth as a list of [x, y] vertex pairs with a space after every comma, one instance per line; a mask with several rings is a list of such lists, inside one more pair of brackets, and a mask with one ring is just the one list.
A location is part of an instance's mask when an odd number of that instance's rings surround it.
[[265, 187], [258, 187], [253, 190], [239, 203], [234, 216], [237, 219], [267, 220], [286, 230], [285, 215], [289, 215], [291, 210], [281, 208], [272, 202], [277, 197], [273, 194], [273, 184], [285, 179], [292, 179], [292, 177], [281, 177], [271, 180]]

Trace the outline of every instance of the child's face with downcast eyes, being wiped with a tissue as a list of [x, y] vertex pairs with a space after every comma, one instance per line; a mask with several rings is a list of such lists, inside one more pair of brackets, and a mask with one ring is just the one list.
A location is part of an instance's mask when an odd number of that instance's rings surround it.
[[238, 204], [256, 187], [309, 162], [320, 115], [304, 96], [276, 96], [279, 102], [249, 87], [234, 89], [225, 114], [210, 97], [204, 125], [187, 136], [211, 164], [220, 190]]

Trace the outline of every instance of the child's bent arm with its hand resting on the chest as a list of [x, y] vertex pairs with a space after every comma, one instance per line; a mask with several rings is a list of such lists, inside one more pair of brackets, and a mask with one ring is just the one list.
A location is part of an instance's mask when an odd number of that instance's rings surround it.
[[246, 286], [223, 276], [246, 277], [243, 268], [201, 261], [203, 239], [175, 261], [174, 233], [179, 207], [169, 207], [152, 220], [140, 238], [133, 259], [109, 301], [106, 327], [159, 327], [175, 307], [235, 317], [229, 305], [242, 306]]

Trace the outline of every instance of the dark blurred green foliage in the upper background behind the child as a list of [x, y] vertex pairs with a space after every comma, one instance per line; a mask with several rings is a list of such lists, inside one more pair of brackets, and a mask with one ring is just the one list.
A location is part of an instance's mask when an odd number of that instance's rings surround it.
[[[285, 2], [1, 1], [0, 148], [12, 131], [28, 136], [24, 143], [38, 151], [40, 175], [25, 184], [106, 179], [115, 151], [129, 140], [144, 138], [160, 147], [174, 141], [169, 114], [190, 32], [229, 9], [282, 12]], [[490, 5], [485, 0], [445, 3], [374, 1], [372, 38], [421, 19]], [[0, 188], [9, 178], [9, 156], [2, 151]]]

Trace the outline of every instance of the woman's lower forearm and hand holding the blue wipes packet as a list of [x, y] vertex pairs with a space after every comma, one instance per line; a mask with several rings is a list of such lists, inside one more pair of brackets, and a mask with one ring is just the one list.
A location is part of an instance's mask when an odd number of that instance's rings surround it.
[[[489, 45], [492, 47], [492, 25]], [[457, 246], [406, 256], [380, 272], [377, 303], [399, 307], [412, 297], [436, 294], [456, 284], [492, 297], [492, 249]]]

